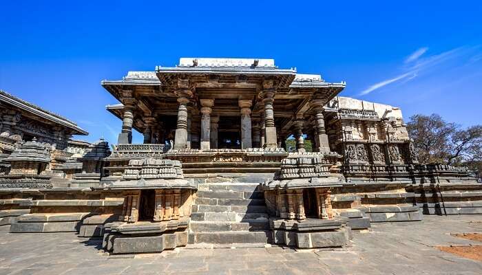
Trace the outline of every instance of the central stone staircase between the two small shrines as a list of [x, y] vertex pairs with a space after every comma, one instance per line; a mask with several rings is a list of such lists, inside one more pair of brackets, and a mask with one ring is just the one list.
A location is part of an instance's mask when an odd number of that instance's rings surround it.
[[200, 184], [191, 213], [189, 243], [258, 247], [271, 243], [260, 184]]

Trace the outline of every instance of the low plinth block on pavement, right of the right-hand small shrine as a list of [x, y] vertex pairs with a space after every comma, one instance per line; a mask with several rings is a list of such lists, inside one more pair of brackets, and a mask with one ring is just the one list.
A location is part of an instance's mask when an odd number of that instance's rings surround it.
[[392, 221], [421, 221], [423, 214], [418, 206], [399, 204], [396, 206], [357, 206], [373, 223]]

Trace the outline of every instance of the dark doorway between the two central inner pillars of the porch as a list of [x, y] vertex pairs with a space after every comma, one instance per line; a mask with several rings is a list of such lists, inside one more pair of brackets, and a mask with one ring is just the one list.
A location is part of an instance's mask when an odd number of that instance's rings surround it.
[[222, 116], [218, 128], [218, 148], [241, 148], [241, 122], [239, 116]]

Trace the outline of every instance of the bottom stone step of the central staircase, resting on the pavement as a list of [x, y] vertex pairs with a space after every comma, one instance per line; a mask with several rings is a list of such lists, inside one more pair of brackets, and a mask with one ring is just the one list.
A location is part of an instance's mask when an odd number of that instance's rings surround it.
[[271, 243], [269, 231], [191, 232], [189, 243]]

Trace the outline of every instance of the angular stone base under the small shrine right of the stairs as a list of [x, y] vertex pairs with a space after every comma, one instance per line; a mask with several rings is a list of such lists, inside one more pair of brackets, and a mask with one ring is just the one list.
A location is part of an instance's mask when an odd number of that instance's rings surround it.
[[287, 221], [272, 219], [273, 243], [296, 248], [335, 248], [348, 244], [351, 239], [346, 221], [306, 219]]

